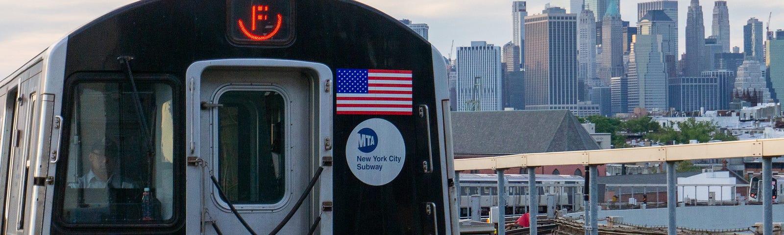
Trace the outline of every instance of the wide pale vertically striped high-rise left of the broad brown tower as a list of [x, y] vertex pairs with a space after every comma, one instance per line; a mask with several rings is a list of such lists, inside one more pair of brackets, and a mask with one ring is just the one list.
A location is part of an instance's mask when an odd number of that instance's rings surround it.
[[471, 42], [471, 46], [458, 47], [456, 66], [458, 111], [502, 109], [499, 46]]

